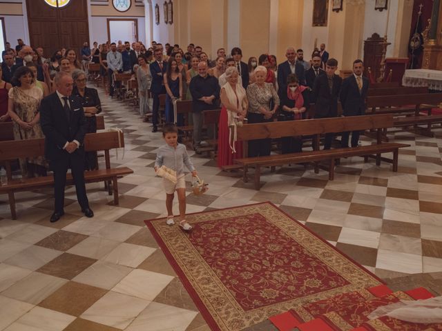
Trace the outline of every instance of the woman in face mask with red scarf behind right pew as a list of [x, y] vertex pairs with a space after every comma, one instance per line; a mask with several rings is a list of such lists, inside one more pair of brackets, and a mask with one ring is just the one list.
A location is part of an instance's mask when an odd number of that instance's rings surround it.
[[[302, 119], [309, 106], [308, 88], [298, 83], [296, 74], [287, 77], [287, 90], [281, 93], [280, 114], [278, 121]], [[302, 152], [302, 136], [283, 137], [282, 154]]]

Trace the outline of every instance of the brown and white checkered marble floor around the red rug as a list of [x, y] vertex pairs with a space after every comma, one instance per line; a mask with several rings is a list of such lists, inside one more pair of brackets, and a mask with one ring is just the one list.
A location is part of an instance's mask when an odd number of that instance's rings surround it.
[[[17, 221], [0, 195], [0, 330], [209, 330], [143, 223], [166, 215], [153, 172], [161, 133], [151, 133], [137, 109], [102, 90], [100, 97], [106, 128], [125, 134], [126, 148], [111, 162], [134, 174], [119, 180], [119, 206], [102, 183], [87, 185], [93, 219], [82, 217], [74, 188], [57, 223], [49, 222], [50, 189], [17, 194]], [[189, 190], [187, 212], [271, 201], [381, 278], [441, 272], [442, 129], [435, 132], [390, 134], [411, 145], [396, 173], [388, 163], [349, 158], [328, 181], [326, 172], [294, 165], [264, 171], [260, 191], [193, 155], [209, 192]]]

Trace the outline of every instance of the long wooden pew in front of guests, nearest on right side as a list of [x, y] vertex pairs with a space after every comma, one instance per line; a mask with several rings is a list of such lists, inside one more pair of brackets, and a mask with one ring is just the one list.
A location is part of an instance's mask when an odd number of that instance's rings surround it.
[[[314, 137], [314, 151], [269, 155], [267, 157], [246, 157], [236, 159], [235, 161], [242, 165], [244, 171], [244, 182], [247, 182], [247, 171], [250, 166], [255, 167], [254, 184], [255, 189], [260, 189], [260, 168], [262, 166], [275, 166], [315, 162], [315, 172], [318, 173], [318, 161], [327, 161], [329, 163], [327, 170], [329, 180], [334, 179], [335, 160], [341, 157], [364, 157], [367, 162], [369, 157], [376, 159], [376, 165], [381, 161], [390, 162], [393, 165], [392, 170], [398, 170], [398, 149], [408, 147], [403, 143], [382, 143], [381, 130], [394, 126], [392, 114], [381, 114], [372, 116], [358, 117], [338, 117], [332, 119], [304, 119], [300, 121], [281, 121], [268, 123], [244, 124], [238, 128], [238, 141], [248, 141], [253, 139], [277, 139], [281, 137], [307, 136]], [[375, 129], [377, 139], [374, 145], [358, 146], [354, 148], [336, 148], [332, 150], [319, 150], [319, 136], [325, 133], [336, 133], [343, 131], [356, 131]], [[393, 159], [381, 157], [382, 153], [393, 152]]]

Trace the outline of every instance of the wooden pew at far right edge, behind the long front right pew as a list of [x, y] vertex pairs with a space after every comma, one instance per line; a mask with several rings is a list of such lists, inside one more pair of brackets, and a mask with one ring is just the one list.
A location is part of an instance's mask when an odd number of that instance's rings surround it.
[[[406, 116], [394, 120], [395, 127], [413, 126], [414, 132], [432, 137], [432, 124], [441, 123], [442, 115], [432, 115], [432, 108], [442, 103], [442, 93], [367, 97], [367, 114], [395, 114]], [[425, 111], [425, 112], [423, 112]], [[426, 124], [426, 128], [418, 125]], [[386, 129], [383, 139], [387, 140]]]

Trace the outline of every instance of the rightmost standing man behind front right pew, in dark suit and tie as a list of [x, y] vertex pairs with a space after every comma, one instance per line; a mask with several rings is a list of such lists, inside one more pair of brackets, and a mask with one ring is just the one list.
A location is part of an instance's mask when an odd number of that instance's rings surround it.
[[[354, 60], [353, 74], [343, 81], [340, 89], [340, 104], [343, 106], [344, 116], [359, 116], [365, 114], [365, 99], [369, 81], [367, 77], [363, 77], [364, 63], [361, 59]], [[350, 132], [343, 132], [340, 146], [348, 147], [348, 139]], [[352, 147], [358, 146], [360, 131], [352, 132]]]

